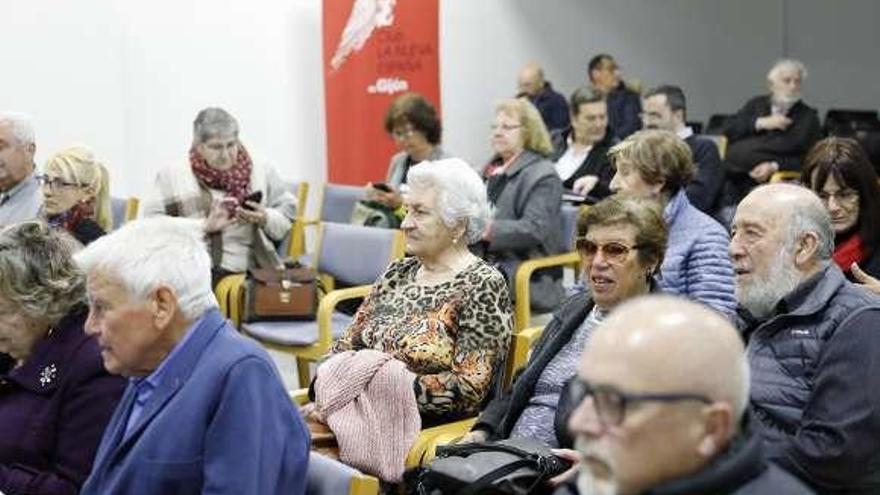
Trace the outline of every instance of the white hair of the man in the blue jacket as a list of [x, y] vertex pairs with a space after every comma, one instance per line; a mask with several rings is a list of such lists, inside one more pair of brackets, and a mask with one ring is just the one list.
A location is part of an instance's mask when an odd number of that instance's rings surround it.
[[146, 299], [159, 286], [169, 287], [183, 315], [195, 320], [217, 307], [203, 238], [192, 219], [146, 218], [97, 239], [74, 259], [87, 273], [106, 270], [132, 297]]

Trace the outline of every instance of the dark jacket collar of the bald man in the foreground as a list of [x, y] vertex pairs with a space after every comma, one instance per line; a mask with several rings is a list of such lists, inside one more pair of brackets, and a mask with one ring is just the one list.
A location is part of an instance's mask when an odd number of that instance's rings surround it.
[[751, 428], [748, 415], [730, 446], [698, 473], [662, 483], [645, 495], [732, 493], [767, 469], [762, 439]]

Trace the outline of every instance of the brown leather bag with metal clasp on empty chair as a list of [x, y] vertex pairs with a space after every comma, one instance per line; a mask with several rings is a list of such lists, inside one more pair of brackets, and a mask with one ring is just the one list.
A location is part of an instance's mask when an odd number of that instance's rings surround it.
[[256, 268], [245, 277], [244, 314], [254, 321], [314, 320], [318, 310], [318, 280], [315, 270], [294, 265], [285, 268]]

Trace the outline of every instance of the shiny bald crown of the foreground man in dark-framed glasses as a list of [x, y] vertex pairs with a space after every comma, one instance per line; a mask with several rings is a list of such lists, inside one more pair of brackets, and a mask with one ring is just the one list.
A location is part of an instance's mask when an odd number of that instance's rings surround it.
[[748, 402], [748, 363], [733, 325], [677, 297], [646, 296], [620, 305], [596, 330], [581, 365], [596, 383], [727, 403], [734, 428]]

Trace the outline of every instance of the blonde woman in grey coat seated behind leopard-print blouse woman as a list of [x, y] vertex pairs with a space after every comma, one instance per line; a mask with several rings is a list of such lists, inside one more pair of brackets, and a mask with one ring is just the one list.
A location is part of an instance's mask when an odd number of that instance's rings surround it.
[[[512, 290], [520, 263], [563, 251], [562, 181], [546, 158], [553, 147], [541, 115], [522, 98], [496, 107], [492, 149], [483, 176], [494, 216], [482, 240], [485, 258], [504, 272]], [[562, 269], [537, 270], [529, 296], [533, 310], [555, 310], [563, 297]]]

